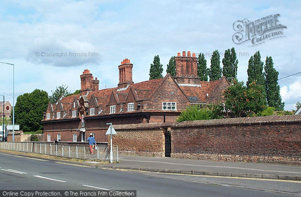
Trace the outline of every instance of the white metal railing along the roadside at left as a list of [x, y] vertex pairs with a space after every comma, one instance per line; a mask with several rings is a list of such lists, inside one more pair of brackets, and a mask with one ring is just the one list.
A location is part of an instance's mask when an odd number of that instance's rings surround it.
[[[39, 153], [67, 158], [109, 160], [110, 148], [98, 145], [90, 154], [89, 145], [53, 144], [42, 142], [0, 142], [0, 149], [20, 152]], [[113, 146], [113, 161], [118, 162], [118, 147]]]

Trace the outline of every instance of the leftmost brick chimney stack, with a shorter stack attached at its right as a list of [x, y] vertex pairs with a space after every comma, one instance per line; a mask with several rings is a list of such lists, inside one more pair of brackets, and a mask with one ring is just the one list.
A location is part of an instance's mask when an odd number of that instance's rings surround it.
[[89, 91], [97, 91], [99, 89], [99, 80], [97, 77], [93, 79], [90, 70], [85, 69], [80, 75], [80, 95], [86, 95]]

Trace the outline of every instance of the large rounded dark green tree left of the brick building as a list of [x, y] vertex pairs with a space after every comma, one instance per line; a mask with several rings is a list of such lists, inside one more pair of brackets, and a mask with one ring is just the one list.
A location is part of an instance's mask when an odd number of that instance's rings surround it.
[[15, 121], [24, 132], [43, 130], [41, 121], [49, 103], [48, 93], [35, 89], [17, 97]]

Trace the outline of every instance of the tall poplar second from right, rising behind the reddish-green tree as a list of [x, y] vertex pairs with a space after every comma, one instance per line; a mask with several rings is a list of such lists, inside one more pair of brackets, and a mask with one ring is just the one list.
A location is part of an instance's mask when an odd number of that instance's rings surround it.
[[251, 56], [248, 64], [248, 81], [247, 86], [253, 81], [256, 81], [258, 85], [264, 85], [264, 74], [263, 71], [263, 62], [261, 61], [259, 51], [255, 52], [254, 56]]

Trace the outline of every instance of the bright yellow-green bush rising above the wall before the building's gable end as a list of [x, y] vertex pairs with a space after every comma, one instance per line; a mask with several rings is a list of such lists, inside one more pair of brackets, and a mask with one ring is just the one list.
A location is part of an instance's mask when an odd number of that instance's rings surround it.
[[177, 122], [209, 120], [213, 119], [214, 115], [208, 108], [201, 108], [200, 105], [191, 105], [186, 110], [182, 111], [177, 118]]

